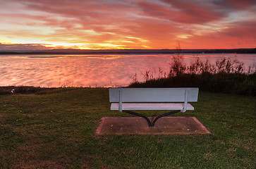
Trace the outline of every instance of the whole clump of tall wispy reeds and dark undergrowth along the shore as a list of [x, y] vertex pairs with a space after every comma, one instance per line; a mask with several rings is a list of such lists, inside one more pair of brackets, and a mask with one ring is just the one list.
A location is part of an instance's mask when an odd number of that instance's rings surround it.
[[129, 87], [200, 87], [209, 92], [222, 92], [256, 96], [256, 64], [245, 69], [237, 59], [221, 58], [215, 63], [196, 58], [185, 65], [183, 56], [173, 56], [169, 72], [159, 68], [142, 73], [143, 82], [135, 80]]

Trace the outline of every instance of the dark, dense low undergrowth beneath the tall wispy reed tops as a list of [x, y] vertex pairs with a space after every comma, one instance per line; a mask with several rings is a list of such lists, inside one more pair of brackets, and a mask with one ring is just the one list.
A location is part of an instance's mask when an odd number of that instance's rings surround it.
[[208, 92], [256, 96], [256, 73], [182, 74], [159, 80], [135, 82], [129, 87], [199, 87]]

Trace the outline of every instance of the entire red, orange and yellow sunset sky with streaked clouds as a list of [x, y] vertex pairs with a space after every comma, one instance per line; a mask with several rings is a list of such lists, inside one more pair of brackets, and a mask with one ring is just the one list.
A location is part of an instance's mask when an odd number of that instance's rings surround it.
[[256, 0], [0, 0], [0, 50], [256, 47]]

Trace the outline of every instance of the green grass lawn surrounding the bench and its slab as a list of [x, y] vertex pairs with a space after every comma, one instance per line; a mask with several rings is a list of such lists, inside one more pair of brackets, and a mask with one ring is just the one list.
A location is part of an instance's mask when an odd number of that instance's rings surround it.
[[[108, 89], [0, 95], [0, 168], [255, 168], [256, 99], [200, 92], [195, 116], [212, 134], [95, 136]], [[146, 115], [160, 112], [145, 111]]]

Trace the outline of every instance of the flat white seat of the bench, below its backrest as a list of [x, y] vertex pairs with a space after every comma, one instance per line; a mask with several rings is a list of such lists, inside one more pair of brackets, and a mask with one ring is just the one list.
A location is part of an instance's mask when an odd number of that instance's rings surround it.
[[[112, 111], [118, 111], [119, 104], [113, 103], [111, 104]], [[122, 110], [183, 110], [184, 104], [130, 104], [130, 103], [123, 103]], [[194, 107], [191, 104], [188, 104], [187, 110], [193, 111]]]

